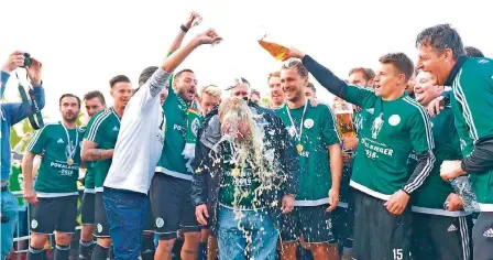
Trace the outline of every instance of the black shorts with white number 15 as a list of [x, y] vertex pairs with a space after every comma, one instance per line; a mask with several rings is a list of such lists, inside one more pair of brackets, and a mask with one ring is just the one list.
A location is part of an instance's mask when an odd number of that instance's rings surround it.
[[385, 201], [354, 191], [354, 259], [410, 259], [410, 206], [396, 216], [384, 204]]

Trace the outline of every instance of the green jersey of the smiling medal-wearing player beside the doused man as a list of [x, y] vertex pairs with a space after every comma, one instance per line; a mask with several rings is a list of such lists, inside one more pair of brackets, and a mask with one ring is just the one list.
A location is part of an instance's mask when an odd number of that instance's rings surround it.
[[[283, 105], [276, 113], [288, 129], [294, 147], [303, 145], [303, 151], [298, 153], [299, 192], [295, 206], [329, 204], [328, 193], [332, 186], [332, 175], [327, 148], [340, 142], [330, 108], [324, 105], [313, 107], [307, 101], [305, 106], [295, 109]], [[299, 132], [300, 143], [296, 138]]]

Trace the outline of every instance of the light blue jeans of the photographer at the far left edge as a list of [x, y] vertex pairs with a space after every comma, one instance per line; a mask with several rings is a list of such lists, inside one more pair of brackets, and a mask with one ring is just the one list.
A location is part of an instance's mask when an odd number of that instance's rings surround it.
[[18, 209], [19, 209], [18, 199], [10, 192], [2, 192], [0, 206], [2, 216], [9, 218], [8, 223], [1, 224], [2, 251], [0, 259], [4, 259], [10, 253], [13, 247], [13, 232], [15, 230], [15, 226], [18, 223]]

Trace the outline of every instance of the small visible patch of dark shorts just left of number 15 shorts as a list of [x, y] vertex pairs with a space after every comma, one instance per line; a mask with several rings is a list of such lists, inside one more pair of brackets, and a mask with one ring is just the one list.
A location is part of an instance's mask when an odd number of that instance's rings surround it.
[[341, 247], [352, 248], [354, 209], [350, 203], [341, 204], [332, 213], [333, 236]]

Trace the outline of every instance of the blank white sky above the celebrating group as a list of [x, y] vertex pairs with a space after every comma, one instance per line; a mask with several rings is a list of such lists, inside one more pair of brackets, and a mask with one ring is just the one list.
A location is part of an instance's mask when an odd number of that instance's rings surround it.
[[[180, 1], [2, 1], [0, 58], [26, 51], [43, 63], [47, 94], [45, 113], [58, 120], [58, 97], [99, 89], [128, 75], [136, 85], [140, 72], [158, 65], [190, 11], [204, 17], [185, 41], [215, 28], [224, 41], [199, 47], [182, 67], [196, 72], [199, 86], [226, 87], [238, 76], [267, 91], [274, 61], [256, 43], [262, 34], [296, 46], [346, 77], [354, 66], [375, 67], [379, 56], [405, 52], [416, 61], [414, 41], [426, 26], [451, 23], [465, 45], [493, 54], [493, 22], [487, 1], [316, 1], [316, 0], [180, 0]], [[21, 73], [22, 74], [22, 73]], [[318, 84], [316, 84], [318, 85]], [[318, 87], [320, 89], [320, 87]], [[319, 90], [325, 100], [330, 96]], [[9, 101], [19, 100], [17, 82], [8, 84]], [[110, 101], [111, 102], [111, 101]]]

